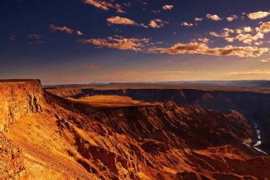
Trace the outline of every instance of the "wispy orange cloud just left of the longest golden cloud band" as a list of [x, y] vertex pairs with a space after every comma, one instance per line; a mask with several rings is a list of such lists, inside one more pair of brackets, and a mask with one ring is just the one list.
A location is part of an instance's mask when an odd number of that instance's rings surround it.
[[78, 40], [80, 43], [91, 43], [99, 48], [107, 47], [132, 51], [143, 51], [148, 41], [148, 38], [123, 38], [121, 36]]

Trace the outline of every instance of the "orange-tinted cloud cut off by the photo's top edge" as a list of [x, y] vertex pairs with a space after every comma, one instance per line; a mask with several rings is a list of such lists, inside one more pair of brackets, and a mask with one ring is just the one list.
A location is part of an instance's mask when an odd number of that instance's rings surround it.
[[103, 0], [84, 0], [85, 4], [90, 4], [95, 6], [98, 9], [102, 9], [103, 11], [109, 11], [109, 9], [116, 9], [117, 13], [125, 13], [122, 6], [120, 4], [111, 4], [107, 1]]

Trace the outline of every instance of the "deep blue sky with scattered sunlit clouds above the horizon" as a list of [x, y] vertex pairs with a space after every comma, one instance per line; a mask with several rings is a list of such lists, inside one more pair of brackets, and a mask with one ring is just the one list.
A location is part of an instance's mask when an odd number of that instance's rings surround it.
[[0, 0], [0, 79], [270, 80], [270, 0]]

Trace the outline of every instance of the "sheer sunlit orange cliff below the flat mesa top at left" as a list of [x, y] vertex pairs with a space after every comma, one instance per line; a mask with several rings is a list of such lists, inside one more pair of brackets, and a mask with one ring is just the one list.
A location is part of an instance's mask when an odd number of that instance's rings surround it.
[[3, 132], [20, 117], [42, 111], [41, 81], [0, 81], [0, 102], [0, 132]]

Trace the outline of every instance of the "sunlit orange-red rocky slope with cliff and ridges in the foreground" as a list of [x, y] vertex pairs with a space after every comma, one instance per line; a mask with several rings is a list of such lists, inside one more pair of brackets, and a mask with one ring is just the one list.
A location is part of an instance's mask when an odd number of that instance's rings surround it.
[[270, 158], [249, 148], [239, 112], [173, 102], [97, 108], [43, 93], [38, 81], [1, 85], [1, 136], [12, 142], [0, 145], [15, 147], [0, 150], [9, 178], [270, 179]]

